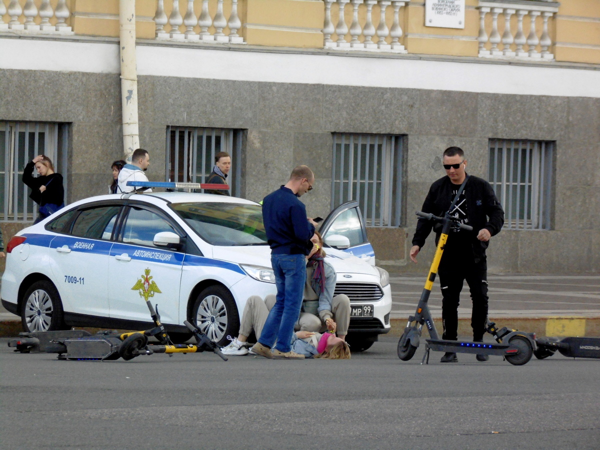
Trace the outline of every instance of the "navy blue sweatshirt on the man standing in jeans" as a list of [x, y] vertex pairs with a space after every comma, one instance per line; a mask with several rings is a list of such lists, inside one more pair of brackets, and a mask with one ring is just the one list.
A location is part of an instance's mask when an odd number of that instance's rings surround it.
[[308, 254], [314, 226], [306, 207], [291, 189], [283, 185], [263, 199], [263, 221], [271, 254]]

